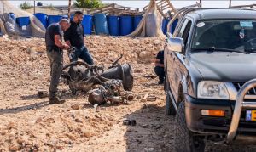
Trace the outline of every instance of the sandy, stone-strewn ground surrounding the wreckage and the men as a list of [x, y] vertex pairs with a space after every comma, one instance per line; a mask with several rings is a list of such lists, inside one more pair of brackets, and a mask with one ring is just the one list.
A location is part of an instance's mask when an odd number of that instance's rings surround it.
[[[154, 76], [160, 38], [86, 37], [96, 65], [108, 67], [120, 53], [135, 78], [135, 99], [95, 109], [87, 94], [64, 90], [65, 104], [49, 104], [38, 91], [49, 90], [49, 59], [44, 39], [0, 40], [0, 151], [173, 151], [173, 116], [165, 115], [165, 93]], [[64, 54], [65, 65], [68, 63]], [[155, 101], [141, 102], [146, 94]], [[136, 126], [123, 124], [135, 120]], [[238, 150], [239, 149], [239, 150]], [[249, 146], [207, 145], [207, 151], [254, 151]]]

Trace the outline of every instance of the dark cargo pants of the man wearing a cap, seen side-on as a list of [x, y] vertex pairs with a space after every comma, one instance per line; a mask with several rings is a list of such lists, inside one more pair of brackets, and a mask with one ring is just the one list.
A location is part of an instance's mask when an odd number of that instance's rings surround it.
[[61, 74], [63, 70], [63, 51], [49, 51], [47, 56], [50, 62], [50, 87], [49, 96], [55, 96], [58, 91], [58, 85], [61, 82]]

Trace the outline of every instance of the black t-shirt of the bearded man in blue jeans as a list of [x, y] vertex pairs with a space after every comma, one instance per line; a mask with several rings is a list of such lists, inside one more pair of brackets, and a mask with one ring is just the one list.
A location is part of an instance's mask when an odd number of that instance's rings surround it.
[[71, 21], [70, 27], [64, 31], [64, 40], [69, 41], [71, 46], [82, 48], [84, 46], [84, 26]]

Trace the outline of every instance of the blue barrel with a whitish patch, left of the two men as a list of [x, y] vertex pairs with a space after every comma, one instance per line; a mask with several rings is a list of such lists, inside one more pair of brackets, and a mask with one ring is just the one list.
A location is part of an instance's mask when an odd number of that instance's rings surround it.
[[23, 17], [17, 17], [16, 18], [16, 23], [20, 27], [20, 32], [26, 37], [26, 36], [31, 36], [32, 35], [32, 30], [30, 25], [30, 19], [28, 16], [23, 16]]

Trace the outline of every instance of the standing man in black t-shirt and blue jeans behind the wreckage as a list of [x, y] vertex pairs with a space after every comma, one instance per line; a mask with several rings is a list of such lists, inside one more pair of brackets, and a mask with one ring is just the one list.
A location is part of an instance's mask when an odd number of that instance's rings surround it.
[[68, 46], [77, 48], [72, 53], [70, 62], [77, 61], [80, 58], [87, 64], [93, 65], [93, 59], [85, 47], [84, 26], [81, 23], [83, 18], [84, 14], [81, 11], [75, 12], [70, 28], [64, 32], [64, 40]]

